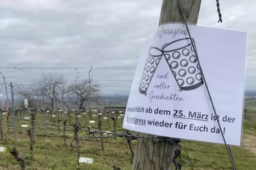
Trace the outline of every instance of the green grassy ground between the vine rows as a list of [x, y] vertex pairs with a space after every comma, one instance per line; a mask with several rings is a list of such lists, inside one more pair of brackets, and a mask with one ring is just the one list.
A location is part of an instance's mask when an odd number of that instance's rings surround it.
[[[24, 118], [25, 115], [22, 116]], [[82, 115], [83, 117], [83, 115]], [[96, 117], [93, 117], [96, 119]], [[4, 120], [4, 117], [3, 117]], [[37, 114], [36, 120], [43, 120], [41, 114]], [[75, 120], [72, 117], [72, 120]], [[13, 121], [11, 118], [10, 121]], [[49, 122], [49, 120], [47, 120]], [[108, 127], [107, 120], [102, 120], [102, 130], [104, 131], [114, 131], [113, 121], [109, 120], [110, 126]], [[81, 120], [82, 128], [85, 127], [85, 124], [88, 124], [88, 120]], [[6, 126], [6, 123], [3, 123], [3, 126]], [[20, 128], [22, 124], [31, 125], [29, 121], [19, 120], [17, 123], [17, 128]], [[13, 126], [11, 122], [10, 125]], [[69, 126], [69, 123], [67, 123]], [[36, 130], [44, 131], [44, 124], [35, 123]], [[97, 121], [95, 124], [91, 124], [93, 130], [98, 130]], [[63, 133], [63, 129], [60, 129]], [[57, 127], [53, 125], [47, 125], [48, 132], [58, 133]], [[121, 120], [118, 120], [117, 131], [123, 132]], [[66, 134], [72, 135], [73, 129], [67, 129]], [[83, 131], [79, 132], [79, 135], [86, 136]], [[244, 139], [248, 142], [252, 136], [256, 136], [256, 124], [253, 122], [244, 123]], [[26, 169], [33, 170], [73, 170], [77, 168], [77, 150], [70, 147], [70, 137], [67, 139], [68, 147], [64, 147], [63, 136], [50, 135], [35, 132], [35, 144], [34, 144], [34, 161], [30, 160], [30, 151], [29, 151], [29, 136], [27, 135], [26, 130], [17, 130], [17, 143], [14, 143], [14, 133], [10, 129], [7, 132], [7, 139], [10, 146], [16, 146], [17, 150], [21, 152], [22, 155], [26, 155]], [[98, 146], [100, 147], [100, 140], [96, 140]], [[74, 142], [75, 143], [75, 142]], [[112, 170], [104, 158], [100, 155], [97, 150], [93, 140], [85, 141], [80, 139], [81, 143], [81, 157], [90, 157], [93, 158], [93, 164], [84, 164], [80, 163], [80, 169], [86, 170]], [[132, 141], [133, 148], [135, 149], [136, 141]], [[0, 146], [6, 146], [4, 141], [0, 141]], [[104, 155], [109, 162], [114, 162], [114, 153], [116, 152], [117, 166], [122, 170], [131, 170], [130, 163], [130, 150], [125, 141], [122, 138], [116, 139], [107, 139], [104, 140]], [[185, 152], [185, 148], [188, 150], [189, 158]], [[250, 143], [244, 143], [243, 147], [231, 147], [233, 156], [236, 161], [237, 169], [239, 170], [249, 170], [256, 167], [256, 157], [255, 153], [252, 150], [255, 148], [254, 145]], [[189, 168], [189, 159], [194, 165], [195, 170], [224, 170], [232, 169], [229, 162], [225, 146], [212, 144], [212, 151], [210, 144], [207, 143], [198, 143], [198, 142], [189, 142], [182, 141], [182, 163], [183, 170], [188, 170]], [[20, 169], [19, 164], [15, 161], [13, 155], [11, 155], [8, 150], [5, 152], [0, 152], [0, 169], [3, 170], [16, 170]]]

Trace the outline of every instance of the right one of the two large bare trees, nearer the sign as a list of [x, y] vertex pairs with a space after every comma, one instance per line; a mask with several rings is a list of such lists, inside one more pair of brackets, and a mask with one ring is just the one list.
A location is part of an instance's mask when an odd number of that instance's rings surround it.
[[[99, 94], [99, 92], [100, 85], [93, 83], [90, 88], [90, 95], [95, 96], [95, 100], [93, 100], [93, 102], [98, 102], [96, 96]], [[77, 95], [78, 101], [72, 98], [73, 94]], [[82, 109], [82, 107], [86, 105], [86, 101], [88, 101], [89, 97], [89, 80], [79, 80], [79, 77], [76, 77], [74, 83], [68, 85], [66, 95], [75, 105], [79, 107], [79, 110]]]

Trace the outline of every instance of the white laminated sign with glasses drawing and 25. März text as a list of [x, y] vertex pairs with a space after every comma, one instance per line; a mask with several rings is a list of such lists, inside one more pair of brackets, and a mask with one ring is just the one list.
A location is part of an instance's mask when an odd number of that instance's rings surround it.
[[[247, 33], [161, 25], [144, 43], [123, 128], [184, 140], [240, 146]], [[200, 65], [217, 116], [210, 103]]]

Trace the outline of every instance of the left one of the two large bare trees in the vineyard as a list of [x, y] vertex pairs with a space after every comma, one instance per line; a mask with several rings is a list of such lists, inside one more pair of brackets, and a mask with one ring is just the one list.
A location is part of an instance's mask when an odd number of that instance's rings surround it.
[[[63, 75], [48, 74], [42, 75], [41, 80], [38, 82], [40, 87], [43, 87], [45, 97], [50, 100], [51, 114], [54, 110], [53, 103], [56, 98], [61, 94], [61, 88], [65, 84], [65, 77]], [[51, 116], [52, 120], [52, 116]]]

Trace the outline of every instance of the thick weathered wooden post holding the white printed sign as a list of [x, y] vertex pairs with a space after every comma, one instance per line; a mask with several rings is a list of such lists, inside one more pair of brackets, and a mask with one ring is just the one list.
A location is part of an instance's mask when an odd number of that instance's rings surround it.
[[[180, 0], [187, 23], [196, 24], [198, 20], [201, 0]], [[177, 0], [163, 0], [159, 25], [167, 22], [183, 22]], [[139, 133], [143, 136], [150, 134]], [[171, 141], [175, 143], [173, 139]], [[138, 139], [134, 155], [132, 170], [171, 170], [174, 150], [176, 146], [168, 142], [153, 142], [153, 139]]]

